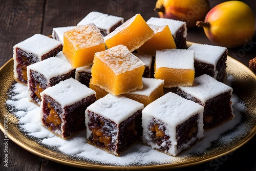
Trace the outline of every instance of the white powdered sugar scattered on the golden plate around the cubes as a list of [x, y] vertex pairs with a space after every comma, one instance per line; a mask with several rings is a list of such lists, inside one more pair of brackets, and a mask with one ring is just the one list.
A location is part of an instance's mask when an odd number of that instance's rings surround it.
[[[239, 126], [242, 117], [240, 112], [244, 110], [245, 106], [243, 103], [240, 103], [239, 98], [233, 94], [231, 100], [235, 114], [234, 119], [214, 130], [205, 132], [203, 140], [177, 157], [158, 152], [141, 142], [125, 151], [120, 157], [117, 157], [88, 144], [86, 142], [85, 131], [67, 140], [52, 134], [42, 125], [41, 116], [39, 115], [39, 106], [28, 100], [27, 86], [14, 83], [9, 93], [10, 96], [6, 101], [6, 105], [9, 106], [13, 115], [18, 118], [21, 132], [31, 137], [33, 141], [37, 138], [37, 143], [49, 149], [57, 149], [71, 158], [77, 158], [81, 161], [86, 160], [114, 166], [170, 164], [185, 161], [187, 160], [187, 156], [197, 155], [198, 153], [207, 151], [207, 148], [211, 146], [213, 141], [218, 140], [222, 143], [229, 144], [233, 139], [241, 136], [241, 134], [246, 135], [246, 128], [243, 128], [243, 125]], [[239, 126], [239, 131], [225, 134], [227, 130], [232, 130], [236, 126]]]

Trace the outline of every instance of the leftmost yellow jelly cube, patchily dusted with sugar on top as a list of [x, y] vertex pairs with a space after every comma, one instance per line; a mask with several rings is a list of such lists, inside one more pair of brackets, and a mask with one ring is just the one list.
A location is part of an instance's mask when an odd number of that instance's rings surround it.
[[104, 50], [103, 36], [95, 24], [78, 26], [64, 33], [62, 51], [73, 68], [92, 65], [95, 52]]

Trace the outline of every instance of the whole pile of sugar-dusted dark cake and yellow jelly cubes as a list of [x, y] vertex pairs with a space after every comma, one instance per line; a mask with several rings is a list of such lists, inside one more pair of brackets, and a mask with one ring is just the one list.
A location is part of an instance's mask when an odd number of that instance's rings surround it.
[[227, 49], [187, 47], [186, 31], [177, 20], [91, 12], [15, 45], [14, 78], [57, 136], [86, 129], [88, 143], [117, 156], [140, 139], [176, 156], [234, 117]]

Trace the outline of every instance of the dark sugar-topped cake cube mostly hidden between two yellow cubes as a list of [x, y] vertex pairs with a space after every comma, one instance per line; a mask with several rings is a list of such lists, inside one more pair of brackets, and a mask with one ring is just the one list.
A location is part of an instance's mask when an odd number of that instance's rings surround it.
[[[152, 76], [152, 73], [154, 73], [154, 61], [153, 61], [153, 56], [151, 55], [146, 55], [146, 54], [138, 54], [138, 53], [133, 53], [135, 56], [137, 56], [142, 62], [145, 63], [145, 70], [142, 75], [142, 77], [145, 78], [150, 78]], [[153, 67], [152, 67], [153, 66]]]

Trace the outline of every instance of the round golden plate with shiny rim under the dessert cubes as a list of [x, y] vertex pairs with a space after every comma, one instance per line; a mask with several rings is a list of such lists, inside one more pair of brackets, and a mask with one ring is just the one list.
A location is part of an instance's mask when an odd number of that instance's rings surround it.
[[[188, 42], [191, 44], [191, 42]], [[245, 108], [240, 112], [241, 121], [236, 126], [232, 127], [231, 130], [226, 131], [222, 136], [228, 138], [235, 138], [235, 141], [230, 143], [221, 143], [219, 140], [211, 142], [211, 146], [208, 147], [203, 153], [190, 154], [188, 156], [181, 155], [177, 157], [177, 161], [157, 164], [148, 163], [145, 165], [111, 165], [100, 162], [93, 162], [87, 159], [80, 160], [72, 155], [67, 155], [56, 151], [49, 146], [41, 145], [35, 139], [28, 137], [18, 126], [18, 118], [12, 114], [13, 109], [10, 109], [6, 105], [6, 100], [9, 98], [9, 91], [11, 86], [15, 83], [13, 76], [13, 59], [10, 59], [0, 69], [0, 128], [2, 132], [5, 131], [5, 126], [8, 126], [8, 138], [23, 147], [27, 151], [61, 164], [66, 164], [75, 167], [88, 168], [88, 169], [168, 169], [168, 168], [179, 168], [184, 166], [191, 166], [200, 164], [203, 162], [210, 161], [217, 157], [226, 155], [237, 148], [248, 142], [256, 133], [256, 108], [255, 108], [255, 97], [256, 97], [256, 76], [241, 62], [228, 56], [227, 58], [227, 75], [231, 77], [231, 87], [233, 88], [234, 94], [239, 98]], [[8, 118], [7, 120], [5, 120]], [[5, 125], [6, 123], [6, 125]], [[242, 130], [241, 131], [241, 128]], [[7, 127], [6, 127], [7, 128]], [[204, 141], [204, 140], [202, 140]]]

